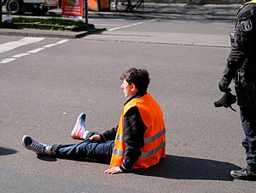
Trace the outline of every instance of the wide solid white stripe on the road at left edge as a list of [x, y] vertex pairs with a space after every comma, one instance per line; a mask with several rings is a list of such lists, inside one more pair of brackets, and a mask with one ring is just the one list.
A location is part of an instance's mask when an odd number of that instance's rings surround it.
[[0, 44], [0, 53], [7, 52], [15, 48], [19, 48], [20, 46], [24, 46], [26, 44], [38, 43], [44, 39], [45, 39], [44, 37], [24, 37], [19, 41], [3, 43], [3, 44]]

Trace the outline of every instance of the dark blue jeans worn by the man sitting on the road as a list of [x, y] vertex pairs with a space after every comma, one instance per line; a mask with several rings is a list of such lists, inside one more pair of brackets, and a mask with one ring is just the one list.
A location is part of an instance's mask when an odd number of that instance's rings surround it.
[[100, 133], [90, 132], [79, 144], [53, 145], [51, 154], [57, 158], [86, 160], [93, 159], [100, 162], [110, 162], [113, 152], [113, 140], [97, 141], [90, 140], [92, 135]]

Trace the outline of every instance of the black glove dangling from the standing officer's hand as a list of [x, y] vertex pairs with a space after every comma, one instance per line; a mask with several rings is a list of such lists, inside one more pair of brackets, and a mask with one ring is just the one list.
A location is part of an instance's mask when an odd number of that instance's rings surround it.
[[231, 110], [236, 111], [235, 109], [232, 108], [232, 104], [236, 103], [236, 95], [233, 95], [230, 93], [231, 89], [228, 88], [228, 91], [223, 95], [221, 99], [216, 101], [214, 103], [215, 107], [222, 107], [224, 106], [225, 108], [230, 107]]

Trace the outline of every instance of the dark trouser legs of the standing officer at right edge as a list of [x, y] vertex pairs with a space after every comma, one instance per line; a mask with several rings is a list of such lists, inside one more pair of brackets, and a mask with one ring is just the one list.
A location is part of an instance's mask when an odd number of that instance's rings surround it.
[[240, 108], [241, 126], [245, 133], [242, 146], [247, 153], [247, 167], [256, 171], [256, 106]]

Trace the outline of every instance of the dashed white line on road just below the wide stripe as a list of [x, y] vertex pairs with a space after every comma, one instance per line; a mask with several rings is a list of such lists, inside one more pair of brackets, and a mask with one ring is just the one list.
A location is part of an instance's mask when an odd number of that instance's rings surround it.
[[[23, 38], [24, 39], [24, 38]], [[44, 38], [43, 38], [44, 39]], [[16, 54], [14, 56], [12, 56], [12, 58], [7, 58], [7, 59], [3, 59], [0, 61], [0, 64], [6, 64], [8, 62], [11, 62], [13, 60], [16, 60], [17, 58], [20, 58], [20, 57], [23, 57], [23, 56], [26, 56], [26, 55], [29, 55], [29, 54], [36, 54], [42, 50], [44, 50], [45, 48], [51, 48], [53, 46], [57, 46], [59, 44], [62, 44], [62, 43], [67, 43], [67, 41], [69, 41], [68, 39], [64, 39], [64, 40], [61, 40], [57, 43], [51, 43], [51, 44], [48, 44], [48, 45], [45, 45], [43, 46], [42, 48], [35, 48], [35, 49], [32, 49], [30, 51], [27, 51], [26, 53], [22, 53], [22, 54]], [[16, 42], [19, 42], [19, 41], [16, 41]], [[14, 42], [12, 42], [14, 43]], [[6, 44], [6, 43], [3, 43], [3, 44]], [[2, 45], [3, 45], [2, 44]], [[1, 45], [0, 45], [0, 48], [1, 48]], [[0, 50], [1, 51], [1, 50]]]

